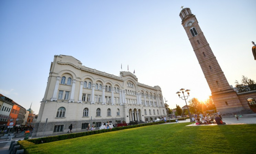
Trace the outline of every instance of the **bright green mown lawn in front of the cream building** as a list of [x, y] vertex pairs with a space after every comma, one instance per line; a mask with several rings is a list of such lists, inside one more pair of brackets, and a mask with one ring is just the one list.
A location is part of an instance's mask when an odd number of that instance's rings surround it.
[[255, 153], [256, 124], [153, 125], [33, 145], [29, 153]]

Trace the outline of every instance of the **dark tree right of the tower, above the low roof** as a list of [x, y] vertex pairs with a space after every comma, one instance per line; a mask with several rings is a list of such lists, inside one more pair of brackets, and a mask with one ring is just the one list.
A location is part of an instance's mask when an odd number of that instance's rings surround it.
[[255, 81], [248, 79], [248, 77], [245, 77], [244, 75], [242, 76], [241, 84], [237, 80], [235, 80], [235, 84], [235, 88], [238, 93], [256, 90]]

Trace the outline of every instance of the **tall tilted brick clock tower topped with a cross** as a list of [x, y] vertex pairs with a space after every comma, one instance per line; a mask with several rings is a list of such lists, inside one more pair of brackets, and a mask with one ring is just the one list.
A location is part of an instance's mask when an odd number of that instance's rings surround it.
[[216, 109], [220, 112], [237, 109], [244, 110], [236, 92], [230, 87], [205, 35], [199, 27], [196, 16], [191, 13], [190, 8], [182, 9], [179, 16], [212, 92]]

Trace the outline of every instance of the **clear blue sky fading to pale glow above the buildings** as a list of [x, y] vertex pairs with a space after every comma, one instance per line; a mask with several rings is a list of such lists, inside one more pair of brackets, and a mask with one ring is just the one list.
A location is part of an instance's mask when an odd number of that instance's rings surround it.
[[179, 89], [205, 100], [211, 91], [188, 40], [181, 6], [196, 15], [230, 85], [256, 80], [256, 1], [0, 1], [0, 93], [38, 114], [54, 55], [71, 55], [109, 74], [133, 73], [162, 89], [170, 108]]

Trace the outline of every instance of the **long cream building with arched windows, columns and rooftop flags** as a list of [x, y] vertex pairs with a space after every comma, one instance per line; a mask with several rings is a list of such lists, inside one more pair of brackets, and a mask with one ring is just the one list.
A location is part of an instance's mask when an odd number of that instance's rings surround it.
[[76, 58], [55, 55], [33, 136], [98, 128], [103, 122], [150, 121], [166, 115], [159, 86], [138, 82], [130, 72], [120, 76], [82, 66]]

